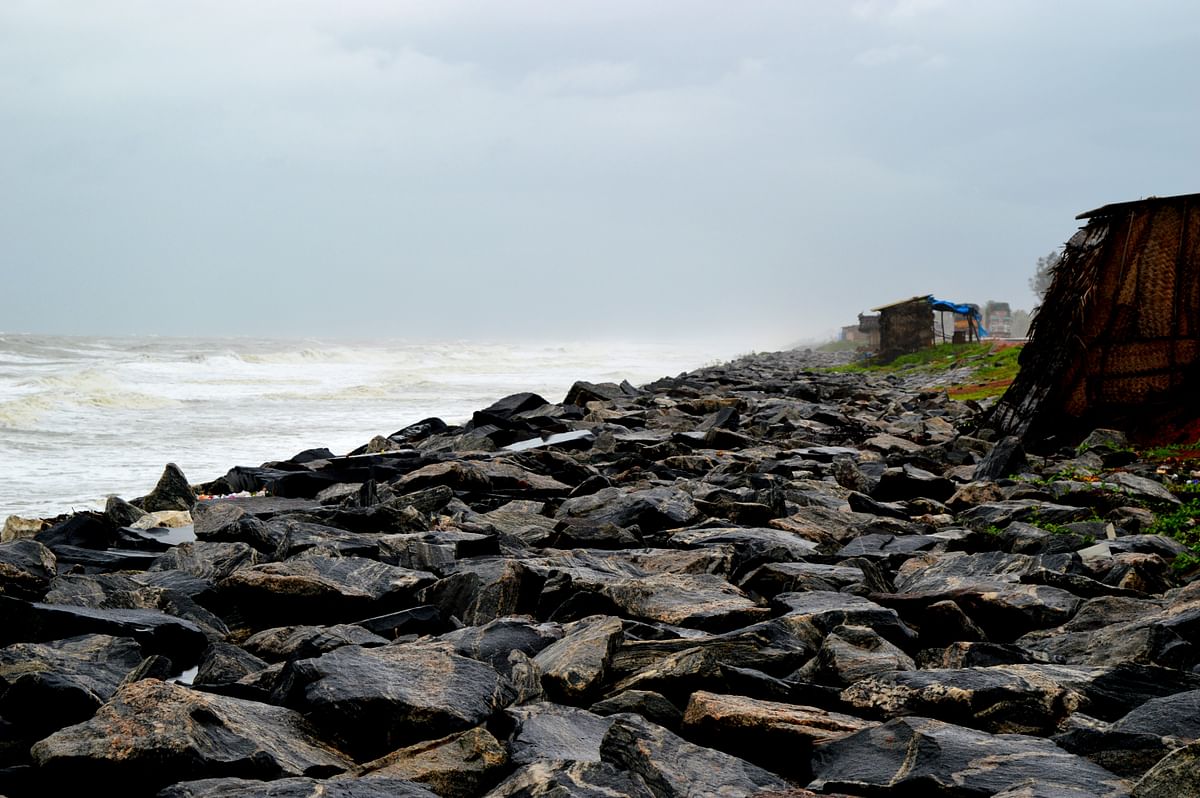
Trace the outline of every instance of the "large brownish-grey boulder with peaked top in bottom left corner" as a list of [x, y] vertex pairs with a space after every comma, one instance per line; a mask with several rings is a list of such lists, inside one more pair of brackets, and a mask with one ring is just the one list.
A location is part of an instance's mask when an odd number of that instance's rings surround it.
[[295, 712], [145, 679], [121, 688], [96, 715], [32, 748], [48, 784], [86, 790], [114, 780], [138, 792], [238, 774], [328, 776], [350, 768]]

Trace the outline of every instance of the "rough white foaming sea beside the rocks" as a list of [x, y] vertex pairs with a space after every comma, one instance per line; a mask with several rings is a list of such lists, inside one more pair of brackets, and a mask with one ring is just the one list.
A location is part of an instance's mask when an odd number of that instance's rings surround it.
[[406, 343], [0, 334], [0, 520], [133, 498], [176, 463], [204, 482], [305, 449], [350, 451], [516, 391], [636, 384], [727, 360], [701, 343]]

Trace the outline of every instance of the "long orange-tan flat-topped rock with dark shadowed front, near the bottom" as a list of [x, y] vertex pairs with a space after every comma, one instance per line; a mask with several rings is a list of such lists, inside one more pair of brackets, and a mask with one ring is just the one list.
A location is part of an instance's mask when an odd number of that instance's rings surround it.
[[877, 725], [817, 707], [704, 691], [691, 696], [683, 719], [690, 739], [802, 781], [811, 778], [809, 758], [815, 743]]

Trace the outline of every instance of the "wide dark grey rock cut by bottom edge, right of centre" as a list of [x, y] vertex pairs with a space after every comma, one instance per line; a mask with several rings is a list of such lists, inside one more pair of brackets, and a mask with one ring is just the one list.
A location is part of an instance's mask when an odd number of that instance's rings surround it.
[[928, 718], [898, 718], [817, 746], [812, 770], [809, 787], [821, 792], [984, 797], [1040, 785], [1078, 798], [1129, 794], [1117, 776], [1050, 740]]

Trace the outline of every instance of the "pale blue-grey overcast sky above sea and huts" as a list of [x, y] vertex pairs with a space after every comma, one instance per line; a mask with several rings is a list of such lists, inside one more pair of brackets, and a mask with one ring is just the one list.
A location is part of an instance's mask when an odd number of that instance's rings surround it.
[[1194, 0], [5, 0], [0, 330], [722, 332], [1028, 308], [1200, 191]]

